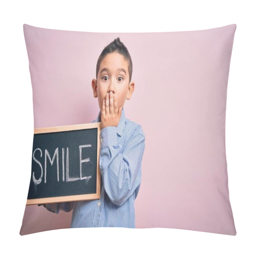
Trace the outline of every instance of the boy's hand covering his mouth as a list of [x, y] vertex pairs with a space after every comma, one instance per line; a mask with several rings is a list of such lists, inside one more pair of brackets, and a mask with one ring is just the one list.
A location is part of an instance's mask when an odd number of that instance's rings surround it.
[[122, 107], [117, 109], [116, 98], [113, 97], [113, 92], [107, 93], [102, 103], [102, 111], [100, 113], [101, 129], [108, 126], [118, 126], [122, 114]]

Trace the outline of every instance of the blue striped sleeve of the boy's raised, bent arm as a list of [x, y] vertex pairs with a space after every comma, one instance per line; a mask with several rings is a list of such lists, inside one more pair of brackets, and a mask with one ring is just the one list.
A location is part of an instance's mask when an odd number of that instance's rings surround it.
[[122, 205], [140, 185], [139, 171], [145, 149], [145, 136], [138, 125], [122, 148], [122, 145], [117, 145], [116, 131], [115, 126], [101, 130], [99, 165], [109, 199], [113, 204]]

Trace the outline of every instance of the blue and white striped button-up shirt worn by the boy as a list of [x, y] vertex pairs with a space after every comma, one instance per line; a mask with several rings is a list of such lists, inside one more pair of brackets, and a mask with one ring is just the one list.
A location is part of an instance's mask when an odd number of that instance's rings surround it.
[[[100, 122], [100, 112], [92, 123]], [[125, 118], [100, 132], [101, 193], [98, 200], [44, 204], [51, 212], [73, 209], [70, 228], [135, 228], [134, 201], [141, 182], [145, 135], [140, 124]]]

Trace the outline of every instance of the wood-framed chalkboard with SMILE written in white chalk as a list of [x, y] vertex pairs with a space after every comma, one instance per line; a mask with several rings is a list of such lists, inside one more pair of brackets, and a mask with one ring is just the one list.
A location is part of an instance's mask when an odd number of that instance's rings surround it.
[[27, 205], [100, 198], [100, 123], [34, 129]]

